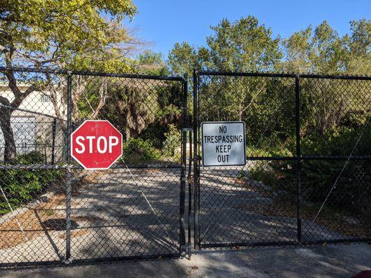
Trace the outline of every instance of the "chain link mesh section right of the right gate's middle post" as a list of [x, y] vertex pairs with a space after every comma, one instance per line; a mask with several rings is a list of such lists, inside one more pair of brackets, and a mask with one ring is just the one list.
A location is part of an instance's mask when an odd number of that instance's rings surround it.
[[369, 80], [301, 79], [303, 240], [371, 238], [370, 97]]

